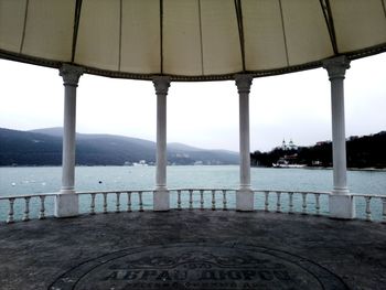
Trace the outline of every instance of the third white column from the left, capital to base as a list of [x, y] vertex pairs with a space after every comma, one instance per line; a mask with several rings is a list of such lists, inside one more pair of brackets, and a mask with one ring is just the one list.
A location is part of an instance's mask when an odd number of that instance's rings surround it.
[[236, 193], [236, 210], [254, 210], [254, 192], [250, 189], [250, 150], [249, 150], [249, 90], [251, 75], [236, 75], [236, 86], [239, 96], [239, 154], [240, 184]]

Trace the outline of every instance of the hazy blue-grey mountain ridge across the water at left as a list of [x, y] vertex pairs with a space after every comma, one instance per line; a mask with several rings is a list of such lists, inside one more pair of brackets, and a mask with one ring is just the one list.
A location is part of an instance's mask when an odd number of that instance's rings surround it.
[[[0, 165], [60, 165], [62, 135], [62, 128], [31, 131], [0, 128]], [[154, 142], [114, 135], [76, 135], [76, 164], [122, 165], [140, 160], [156, 162]], [[168, 160], [172, 164], [237, 164], [238, 154], [171, 143]]]

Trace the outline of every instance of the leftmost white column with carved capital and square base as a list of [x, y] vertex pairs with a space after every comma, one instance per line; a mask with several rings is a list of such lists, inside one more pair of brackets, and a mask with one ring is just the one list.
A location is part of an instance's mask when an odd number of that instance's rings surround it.
[[62, 155], [62, 189], [55, 198], [55, 216], [78, 215], [78, 196], [75, 194], [75, 125], [76, 87], [83, 68], [64, 64], [60, 68], [64, 85], [64, 125]]

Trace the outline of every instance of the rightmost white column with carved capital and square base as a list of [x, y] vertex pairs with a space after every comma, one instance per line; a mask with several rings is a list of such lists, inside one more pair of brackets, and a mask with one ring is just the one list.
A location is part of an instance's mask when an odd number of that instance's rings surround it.
[[325, 60], [323, 67], [331, 82], [332, 111], [332, 161], [333, 191], [329, 200], [330, 216], [335, 218], [353, 218], [355, 216], [354, 200], [347, 189], [346, 140], [344, 121], [344, 76], [350, 68], [345, 56]]

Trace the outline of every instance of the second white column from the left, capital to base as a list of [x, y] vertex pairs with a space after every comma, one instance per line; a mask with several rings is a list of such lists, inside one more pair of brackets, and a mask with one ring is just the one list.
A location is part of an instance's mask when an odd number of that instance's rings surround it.
[[167, 96], [170, 87], [170, 77], [157, 76], [153, 78], [153, 84], [157, 94], [157, 172], [153, 210], [169, 211], [170, 197], [167, 186]]

